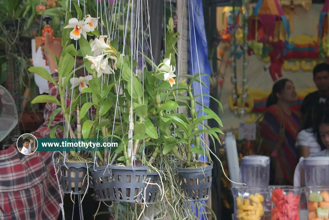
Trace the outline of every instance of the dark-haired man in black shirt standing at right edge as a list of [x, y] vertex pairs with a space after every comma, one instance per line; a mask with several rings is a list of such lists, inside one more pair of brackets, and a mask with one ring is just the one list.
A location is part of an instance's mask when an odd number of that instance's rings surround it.
[[310, 113], [314, 105], [317, 103], [325, 103], [329, 97], [329, 64], [319, 63], [313, 69], [313, 80], [318, 89], [305, 96], [303, 104], [300, 108], [303, 123], [305, 123], [306, 115]]

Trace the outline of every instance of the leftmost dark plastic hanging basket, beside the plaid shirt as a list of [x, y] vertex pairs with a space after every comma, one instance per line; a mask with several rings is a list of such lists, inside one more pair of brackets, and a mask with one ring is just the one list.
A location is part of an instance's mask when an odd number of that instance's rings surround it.
[[88, 192], [88, 174], [86, 163], [75, 163], [61, 161], [58, 163], [60, 171], [60, 182], [64, 193], [67, 194], [85, 194]]

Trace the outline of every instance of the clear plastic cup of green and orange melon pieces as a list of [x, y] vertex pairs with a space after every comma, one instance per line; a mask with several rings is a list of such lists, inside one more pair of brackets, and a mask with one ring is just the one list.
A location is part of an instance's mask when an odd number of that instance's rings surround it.
[[307, 199], [308, 219], [329, 219], [329, 187], [305, 187], [304, 191]]

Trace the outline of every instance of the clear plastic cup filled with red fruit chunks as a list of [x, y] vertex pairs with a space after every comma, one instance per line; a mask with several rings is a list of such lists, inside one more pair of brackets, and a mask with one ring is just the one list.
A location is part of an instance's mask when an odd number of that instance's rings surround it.
[[269, 186], [272, 219], [300, 220], [300, 196], [302, 188], [293, 186]]

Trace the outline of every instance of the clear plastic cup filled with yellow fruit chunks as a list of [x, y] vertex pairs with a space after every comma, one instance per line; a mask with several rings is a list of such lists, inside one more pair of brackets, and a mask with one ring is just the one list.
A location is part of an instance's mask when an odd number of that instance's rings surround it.
[[267, 188], [233, 187], [235, 220], [265, 220]]

